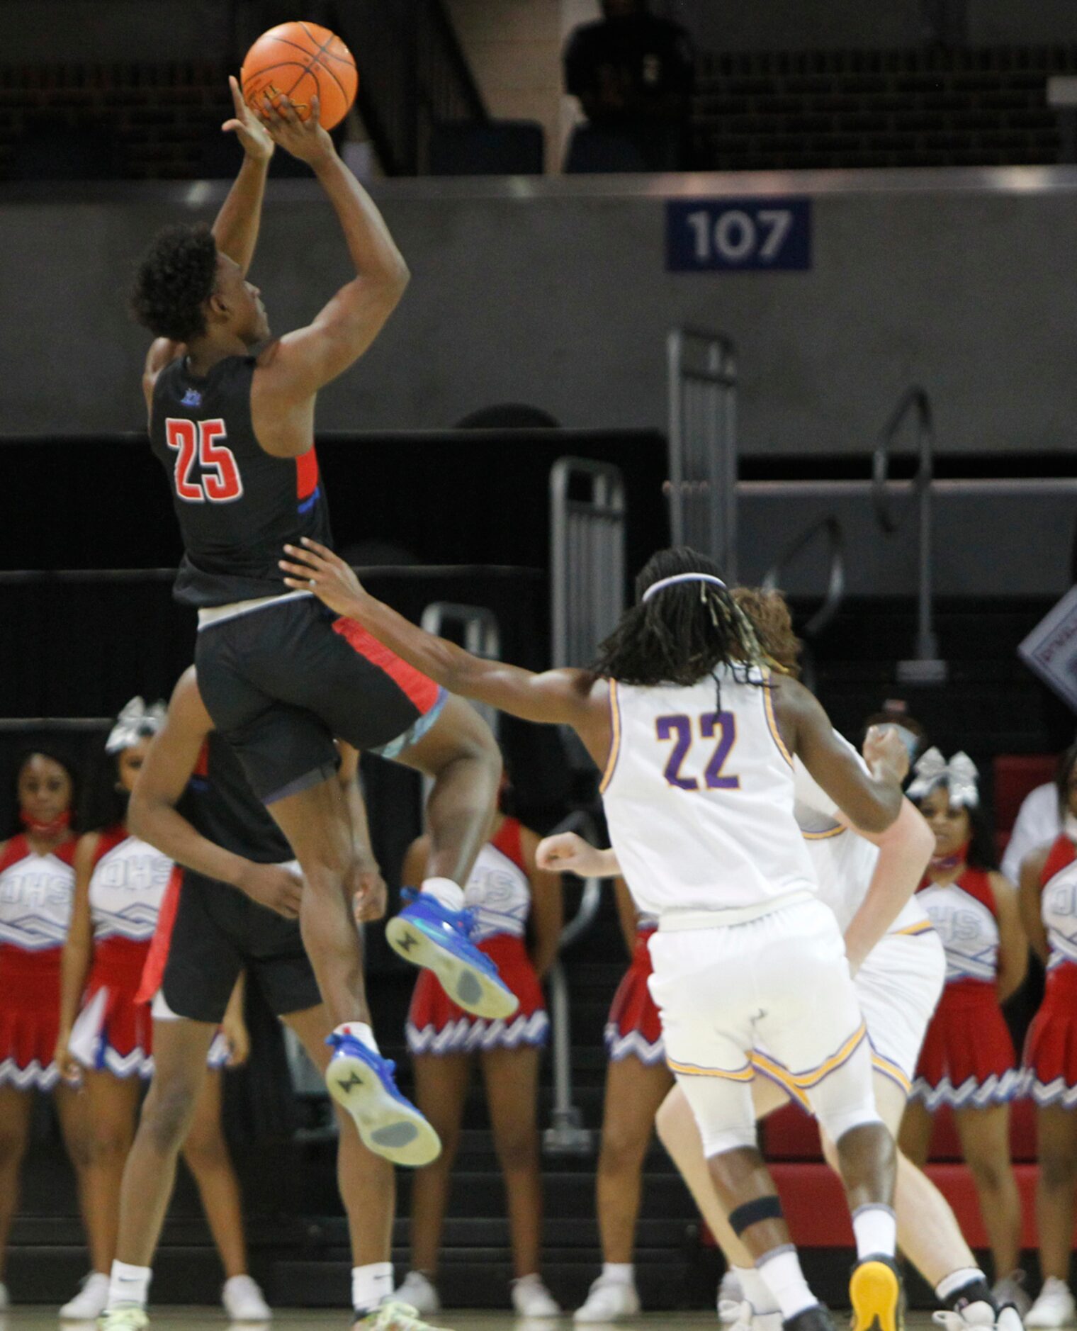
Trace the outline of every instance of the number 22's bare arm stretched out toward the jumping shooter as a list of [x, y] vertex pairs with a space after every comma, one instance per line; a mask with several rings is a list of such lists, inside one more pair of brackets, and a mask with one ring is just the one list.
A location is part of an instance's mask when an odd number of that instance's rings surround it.
[[[473, 656], [455, 643], [427, 634], [371, 596], [338, 555], [304, 538], [302, 547], [285, 546], [285, 583], [313, 591], [338, 615], [355, 619], [379, 642], [461, 697], [497, 707], [510, 716], [547, 725], [571, 725], [599, 767], [610, 753], [610, 689], [587, 671], [551, 669], [535, 673], [505, 662]], [[301, 562], [297, 562], [301, 560]]]

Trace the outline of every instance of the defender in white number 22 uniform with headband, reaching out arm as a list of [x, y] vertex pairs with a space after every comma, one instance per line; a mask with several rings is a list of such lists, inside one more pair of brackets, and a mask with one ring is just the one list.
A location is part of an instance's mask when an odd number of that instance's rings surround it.
[[329, 550], [288, 547], [289, 586], [357, 619], [430, 677], [526, 720], [571, 725], [606, 768], [614, 848], [636, 904], [659, 916], [651, 990], [670, 1066], [692, 1106], [711, 1177], [787, 1326], [829, 1326], [808, 1290], [756, 1147], [751, 1054], [760, 1041], [837, 1142], [859, 1262], [855, 1331], [900, 1326], [893, 1264], [893, 1138], [872, 1095], [871, 1054], [833, 914], [793, 819], [793, 755], [857, 824], [901, 808], [907, 756], [872, 733], [872, 775], [825, 712], [772, 676], [751, 619], [714, 563], [660, 551], [588, 671], [534, 675], [433, 638], [370, 596]]

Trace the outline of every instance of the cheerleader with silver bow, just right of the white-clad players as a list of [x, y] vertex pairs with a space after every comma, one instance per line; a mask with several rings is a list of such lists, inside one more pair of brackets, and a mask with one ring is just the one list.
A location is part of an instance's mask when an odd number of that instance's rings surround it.
[[1002, 1280], [1016, 1272], [1021, 1248], [1021, 1202], [1009, 1153], [1009, 1101], [1021, 1078], [1001, 1004], [1025, 978], [1028, 942], [1017, 892], [993, 868], [976, 779], [965, 753], [945, 763], [939, 749], [928, 749], [908, 789], [935, 833], [919, 900], [947, 950], [947, 982], [924, 1040], [900, 1141], [923, 1167], [932, 1113], [940, 1105], [953, 1109], [994, 1278]]

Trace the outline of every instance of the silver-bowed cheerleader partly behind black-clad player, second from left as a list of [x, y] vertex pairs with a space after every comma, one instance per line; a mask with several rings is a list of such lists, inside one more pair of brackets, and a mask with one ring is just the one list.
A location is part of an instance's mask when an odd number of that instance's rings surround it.
[[[149, 1002], [140, 1001], [142, 966], [173, 864], [126, 828], [126, 803], [160, 729], [162, 703], [146, 708], [141, 697], [124, 708], [107, 743], [110, 767], [110, 817], [101, 832], [83, 836], [75, 849], [75, 900], [64, 945], [60, 1030], [56, 1063], [71, 1085], [81, 1085], [88, 1114], [87, 1207], [101, 1242], [92, 1251], [93, 1270], [79, 1296], [79, 1316], [100, 1315], [109, 1294], [116, 1255], [120, 1186], [134, 1138], [144, 1079], [153, 1073]], [[246, 1032], [240, 997], [222, 1022], [226, 1041], [210, 1051], [210, 1066], [245, 1057]], [[229, 1054], [229, 1047], [236, 1055]], [[218, 1243], [229, 1280], [246, 1275], [246, 1251], [236, 1174], [220, 1121], [220, 1078], [208, 1078], [185, 1145], [206, 1219]], [[71, 1304], [68, 1306], [71, 1307]], [[264, 1300], [261, 1320], [269, 1315]]]

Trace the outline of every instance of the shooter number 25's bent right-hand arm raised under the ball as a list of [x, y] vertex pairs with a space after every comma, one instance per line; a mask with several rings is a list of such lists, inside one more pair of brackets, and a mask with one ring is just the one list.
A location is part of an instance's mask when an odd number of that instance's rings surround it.
[[317, 97], [305, 121], [288, 97], [273, 105], [266, 100], [260, 109], [274, 141], [314, 170], [355, 266], [355, 277], [313, 323], [282, 337], [258, 362], [258, 394], [265, 394], [266, 405], [277, 401], [288, 407], [305, 402], [363, 354], [403, 295], [410, 273], [374, 201], [318, 124]]

